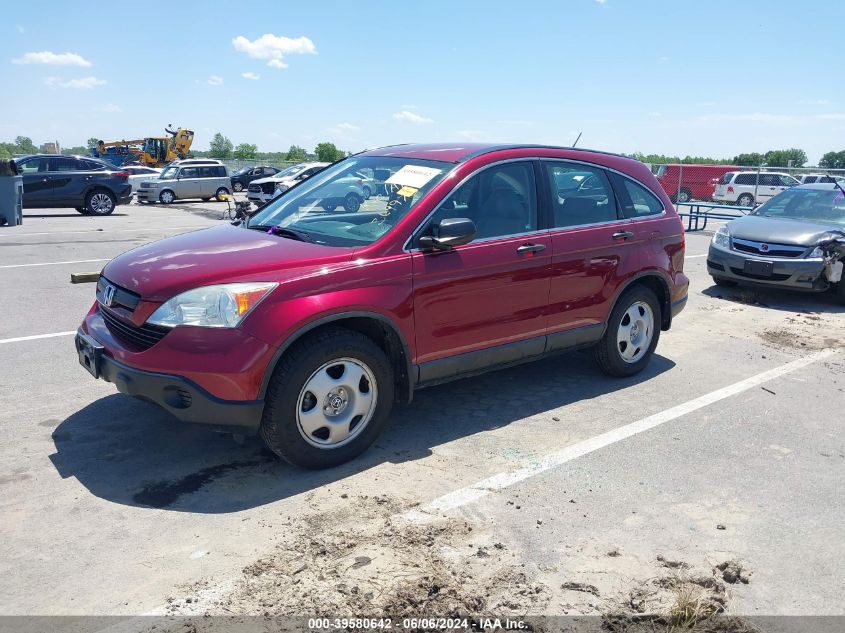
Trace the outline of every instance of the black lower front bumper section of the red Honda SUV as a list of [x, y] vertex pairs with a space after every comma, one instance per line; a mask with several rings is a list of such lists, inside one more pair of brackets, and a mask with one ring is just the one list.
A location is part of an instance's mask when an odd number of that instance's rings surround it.
[[80, 365], [95, 378], [113, 383], [121, 393], [157, 404], [183, 422], [243, 435], [258, 432], [263, 400], [221, 400], [182, 376], [130, 367], [109, 356], [82, 329], [76, 333], [75, 343]]

